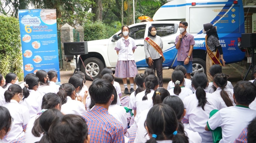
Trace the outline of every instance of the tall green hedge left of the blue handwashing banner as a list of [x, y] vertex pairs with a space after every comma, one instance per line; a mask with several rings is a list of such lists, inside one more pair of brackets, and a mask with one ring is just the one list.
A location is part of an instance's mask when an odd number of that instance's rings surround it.
[[9, 72], [23, 80], [22, 53], [19, 32], [19, 20], [14, 17], [0, 16], [0, 73]]

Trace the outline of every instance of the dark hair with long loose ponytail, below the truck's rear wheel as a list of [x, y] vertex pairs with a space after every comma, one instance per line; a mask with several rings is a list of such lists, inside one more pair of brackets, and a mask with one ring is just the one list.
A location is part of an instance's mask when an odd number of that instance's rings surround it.
[[196, 98], [198, 99], [197, 107], [202, 107], [204, 110], [204, 105], [207, 103], [210, 105], [209, 102], [207, 102], [206, 99], [206, 92], [204, 89], [206, 88], [208, 83], [207, 77], [204, 73], [196, 73], [193, 76], [192, 79], [192, 85], [196, 89]]

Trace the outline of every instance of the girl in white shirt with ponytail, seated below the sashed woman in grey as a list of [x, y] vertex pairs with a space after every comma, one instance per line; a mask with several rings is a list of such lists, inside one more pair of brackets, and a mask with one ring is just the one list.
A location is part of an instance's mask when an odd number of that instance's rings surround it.
[[[138, 93], [135, 97], [133, 105], [134, 117], [136, 114], [140, 114], [145, 109], [150, 109], [153, 106], [152, 96], [155, 90], [158, 88], [158, 79], [155, 75], [149, 75], [145, 79], [144, 86], [146, 87], [145, 92]], [[134, 120], [135, 120], [134, 118]]]

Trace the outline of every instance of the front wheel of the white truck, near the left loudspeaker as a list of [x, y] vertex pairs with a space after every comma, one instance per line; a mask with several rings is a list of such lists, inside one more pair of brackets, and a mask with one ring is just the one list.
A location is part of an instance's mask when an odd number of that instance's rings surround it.
[[84, 61], [85, 67], [82, 64], [81, 71], [85, 73], [86, 80], [94, 80], [100, 77], [100, 73], [105, 68], [104, 63], [98, 58], [88, 58]]

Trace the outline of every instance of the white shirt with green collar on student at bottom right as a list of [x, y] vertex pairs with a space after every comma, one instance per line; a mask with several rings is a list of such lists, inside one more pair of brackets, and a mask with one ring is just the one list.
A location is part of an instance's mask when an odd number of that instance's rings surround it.
[[256, 110], [245, 106], [230, 106], [215, 113], [209, 120], [210, 129], [221, 127], [220, 143], [233, 143], [242, 130], [255, 118]]

